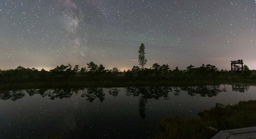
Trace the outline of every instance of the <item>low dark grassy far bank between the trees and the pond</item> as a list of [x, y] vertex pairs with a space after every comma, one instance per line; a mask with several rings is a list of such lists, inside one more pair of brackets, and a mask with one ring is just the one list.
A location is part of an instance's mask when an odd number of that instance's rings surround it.
[[256, 84], [255, 80], [192, 80], [192, 81], [86, 81], [86, 82], [25, 82], [0, 84], [0, 89], [26, 89], [26, 88], [88, 88], [88, 87], [141, 87], [141, 86], [200, 86], [218, 84]]

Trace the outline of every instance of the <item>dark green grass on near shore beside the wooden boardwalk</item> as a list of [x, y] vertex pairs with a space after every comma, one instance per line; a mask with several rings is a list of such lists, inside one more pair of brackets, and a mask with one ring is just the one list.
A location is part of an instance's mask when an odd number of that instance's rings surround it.
[[166, 118], [153, 139], [210, 139], [220, 130], [256, 126], [256, 101], [241, 101], [225, 107], [216, 105], [199, 116], [193, 119]]

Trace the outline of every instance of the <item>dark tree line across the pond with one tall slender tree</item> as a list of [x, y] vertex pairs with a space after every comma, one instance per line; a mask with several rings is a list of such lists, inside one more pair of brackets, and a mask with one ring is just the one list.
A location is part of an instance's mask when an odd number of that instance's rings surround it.
[[61, 64], [56, 68], [46, 71], [45, 69], [29, 69], [22, 66], [16, 69], [0, 70], [0, 83], [26, 83], [26, 82], [190, 82], [190, 81], [213, 81], [226, 79], [255, 79], [256, 74], [244, 66], [243, 71], [231, 72], [218, 70], [215, 65], [202, 64], [195, 67], [190, 64], [185, 70], [178, 67], [171, 70], [168, 64], [154, 63], [152, 67], [145, 68], [145, 45], [139, 48], [139, 66], [133, 66], [127, 71], [120, 71], [114, 67], [106, 69], [102, 64], [87, 63], [87, 67], [80, 65]]

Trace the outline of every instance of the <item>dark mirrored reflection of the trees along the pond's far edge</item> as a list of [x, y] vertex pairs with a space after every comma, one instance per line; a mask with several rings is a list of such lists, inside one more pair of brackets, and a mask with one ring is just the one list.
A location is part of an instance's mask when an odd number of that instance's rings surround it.
[[[106, 89], [106, 90], [105, 90]], [[245, 85], [232, 85], [233, 91], [244, 92], [249, 89]], [[190, 86], [190, 87], [127, 87], [124, 88], [126, 96], [134, 96], [139, 98], [139, 114], [141, 119], [146, 117], [146, 104], [149, 99], [158, 100], [160, 98], [169, 100], [169, 95], [180, 95], [181, 91], [185, 91], [190, 96], [200, 95], [202, 97], [213, 97], [220, 92], [226, 92], [226, 87], [220, 89], [220, 85], [206, 86]], [[119, 95], [118, 88], [54, 88], [54, 89], [26, 89], [26, 90], [0, 90], [0, 99], [16, 101], [24, 97], [26, 94], [33, 96], [39, 94], [42, 97], [48, 97], [51, 100], [70, 98], [72, 95], [85, 97], [87, 101], [93, 102], [98, 99], [100, 102], [105, 100], [105, 92], [110, 96], [117, 97]]]

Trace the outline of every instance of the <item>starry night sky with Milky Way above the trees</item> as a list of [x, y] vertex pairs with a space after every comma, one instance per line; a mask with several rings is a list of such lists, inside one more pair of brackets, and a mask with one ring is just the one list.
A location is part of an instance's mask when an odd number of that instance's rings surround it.
[[256, 0], [0, 0], [0, 69], [93, 61], [256, 69]]

